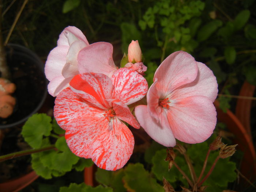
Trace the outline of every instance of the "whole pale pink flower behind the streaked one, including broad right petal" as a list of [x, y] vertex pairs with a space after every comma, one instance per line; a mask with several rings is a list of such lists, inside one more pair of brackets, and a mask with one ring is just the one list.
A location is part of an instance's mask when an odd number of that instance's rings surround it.
[[[82, 53], [79, 56], [80, 51]], [[66, 27], [45, 64], [45, 75], [50, 81], [49, 94], [56, 97], [79, 73], [97, 72], [111, 76], [117, 70], [112, 54], [113, 46], [110, 43], [97, 42], [89, 45], [82, 31], [73, 26]]]

